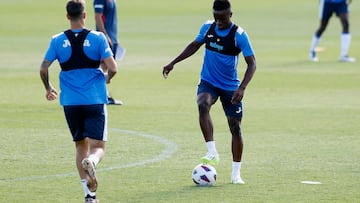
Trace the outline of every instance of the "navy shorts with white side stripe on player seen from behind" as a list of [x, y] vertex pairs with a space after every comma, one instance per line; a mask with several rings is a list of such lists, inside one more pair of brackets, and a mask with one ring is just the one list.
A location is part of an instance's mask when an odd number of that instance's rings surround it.
[[86, 137], [107, 141], [105, 104], [64, 106], [64, 113], [73, 141]]

